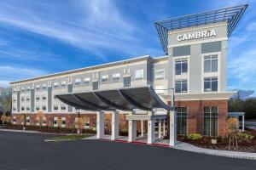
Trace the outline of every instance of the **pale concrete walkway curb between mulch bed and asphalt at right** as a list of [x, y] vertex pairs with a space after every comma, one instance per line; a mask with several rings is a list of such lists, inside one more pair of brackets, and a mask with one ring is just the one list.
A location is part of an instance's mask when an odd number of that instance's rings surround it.
[[209, 149], [197, 147], [193, 144], [187, 144], [183, 142], [178, 142], [178, 144], [175, 147], [173, 147], [173, 149], [186, 150], [186, 151], [207, 154], [212, 156], [226, 156], [226, 157], [239, 158], [239, 159], [256, 160], [256, 153], [238, 152], [238, 151], [230, 151], [230, 150], [209, 150]]

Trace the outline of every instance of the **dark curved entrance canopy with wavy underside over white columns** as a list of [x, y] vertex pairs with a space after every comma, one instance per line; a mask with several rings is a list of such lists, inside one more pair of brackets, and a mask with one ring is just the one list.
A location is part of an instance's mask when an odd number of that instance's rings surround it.
[[63, 103], [85, 111], [132, 111], [133, 109], [152, 111], [154, 108], [172, 110], [170, 106], [160, 99], [151, 86], [59, 94], [55, 96]]

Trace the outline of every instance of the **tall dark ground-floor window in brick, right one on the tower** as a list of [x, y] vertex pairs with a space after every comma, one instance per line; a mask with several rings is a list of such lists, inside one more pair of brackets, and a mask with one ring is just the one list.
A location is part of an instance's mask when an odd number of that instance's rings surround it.
[[204, 107], [204, 135], [218, 136], [218, 107]]

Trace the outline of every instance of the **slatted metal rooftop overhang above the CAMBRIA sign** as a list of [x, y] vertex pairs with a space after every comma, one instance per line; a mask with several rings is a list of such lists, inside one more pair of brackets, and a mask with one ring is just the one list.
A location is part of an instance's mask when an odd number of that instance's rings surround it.
[[154, 24], [160, 37], [160, 42], [164, 52], [166, 52], [166, 54], [168, 53], [168, 31], [225, 21], [228, 23], [227, 35], [230, 37], [247, 6], [248, 5], [245, 4], [199, 14], [189, 14], [168, 20], [156, 21]]

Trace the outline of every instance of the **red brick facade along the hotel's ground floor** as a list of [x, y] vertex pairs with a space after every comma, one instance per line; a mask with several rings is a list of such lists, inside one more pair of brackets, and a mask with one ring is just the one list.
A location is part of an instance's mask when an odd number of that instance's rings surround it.
[[[168, 103], [169, 105], [170, 103]], [[204, 107], [218, 106], [218, 135], [224, 136], [224, 126], [228, 117], [228, 100], [190, 100], [190, 101], [176, 101], [175, 106], [183, 106], [188, 109], [188, 133], [203, 134], [203, 116]], [[20, 116], [22, 114], [13, 114], [16, 119], [16, 124], [20, 124]], [[36, 125], [36, 114], [26, 114], [30, 116], [30, 125]], [[90, 119], [90, 128], [96, 128], [96, 114], [80, 114], [80, 117], [88, 117]], [[69, 114], [45, 114], [46, 126], [54, 125], [54, 117], [66, 117], [66, 127], [75, 127], [75, 117], [79, 117], [77, 113]], [[111, 133], [111, 113], [105, 114], [105, 132]], [[125, 120], [124, 114], [119, 114], [119, 130], [128, 132], [128, 121]], [[141, 131], [141, 121], [137, 121], [137, 132]], [[144, 131], [147, 131], [147, 122], [144, 121]]]

